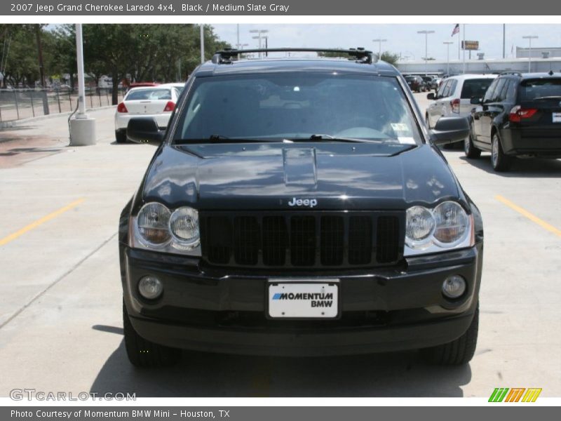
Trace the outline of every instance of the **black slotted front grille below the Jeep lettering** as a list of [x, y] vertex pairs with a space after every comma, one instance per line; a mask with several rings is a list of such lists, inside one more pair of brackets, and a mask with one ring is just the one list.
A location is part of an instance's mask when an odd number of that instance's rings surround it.
[[199, 212], [203, 260], [238, 267], [374, 267], [403, 256], [405, 213]]

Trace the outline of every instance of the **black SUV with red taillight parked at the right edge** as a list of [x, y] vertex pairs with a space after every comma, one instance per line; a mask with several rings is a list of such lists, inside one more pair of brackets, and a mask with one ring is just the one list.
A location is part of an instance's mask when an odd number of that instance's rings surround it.
[[515, 156], [561, 157], [561, 74], [501, 74], [483, 98], [472, 98], [468, 158], [491, 152], [495, 171]]

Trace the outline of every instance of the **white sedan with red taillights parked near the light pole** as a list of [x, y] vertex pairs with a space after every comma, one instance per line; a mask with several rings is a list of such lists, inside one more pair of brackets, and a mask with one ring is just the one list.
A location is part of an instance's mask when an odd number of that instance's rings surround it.
[[180, 93], [173, 86], [145, 86], [132, 88], [117, 105], [115, 112], [115, 138], [119, 143], [127, 140], [128, 121], [133, 117], [152, 117], [158, 127], [168, 126]]

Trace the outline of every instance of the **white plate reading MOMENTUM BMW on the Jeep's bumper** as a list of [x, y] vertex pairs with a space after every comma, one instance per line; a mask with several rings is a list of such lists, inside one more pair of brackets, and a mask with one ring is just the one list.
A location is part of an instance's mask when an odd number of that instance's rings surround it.
[[337, 281], [269, 283], [269, 316], [288, 319], [334, 319], [339, 314]]

